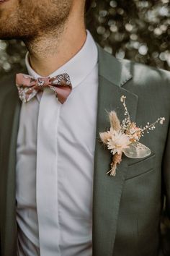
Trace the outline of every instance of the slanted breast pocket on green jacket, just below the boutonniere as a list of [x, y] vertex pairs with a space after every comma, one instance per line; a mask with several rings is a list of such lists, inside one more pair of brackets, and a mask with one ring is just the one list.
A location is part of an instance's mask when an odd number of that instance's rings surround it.
[[153, 170], [155, 167], [155, 153], [151, 153], [147, 158], [135, 159], [135, 162], [128, 165], [126, 179], [132, 179], [135, 176], [146, 174], [146, 172]]

